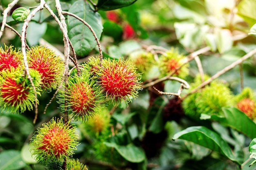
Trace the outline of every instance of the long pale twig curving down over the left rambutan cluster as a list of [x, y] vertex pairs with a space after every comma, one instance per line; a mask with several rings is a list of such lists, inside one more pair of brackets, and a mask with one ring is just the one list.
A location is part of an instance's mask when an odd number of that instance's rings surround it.
[[36, 123], [36, 119], [37, 119], [37, 115], [38, 115], [38, 103], [37, 103], [37, 93], [36, 93], [36, 87], [33, 83], [33, 79], [31, 77], [31, 75], [29, 74], [29, 65], [27, 63], [27, 55], [26, 55], [26, 30], [28, 27], [29, 22], [31, 21], [31, 18], [34, 17], [34, 15], [43, 9], [43, 6], [45, 4], [44, 0], [40, 1], [40, 5], [34, 9], [28, 16], [27, 19], [24, 21], [23, 26], [22, 26], [22, 31], [21, 31], [21, 51], [22, 51], [22, 55], [23, 55], [23, 60], [24, 60], [24, 66], [25, 66], [25, 75], [27, 75], [27, 78], [29, 79], [31, 86], [34, 89], [34, 95], [36, 98], [36, 102], [35, 102], [35, 118], [33, 120], [33, 123]]

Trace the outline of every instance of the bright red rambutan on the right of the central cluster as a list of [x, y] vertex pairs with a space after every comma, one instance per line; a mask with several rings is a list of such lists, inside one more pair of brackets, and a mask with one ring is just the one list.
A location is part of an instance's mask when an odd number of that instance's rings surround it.
[[105, 59], [102, 65], [98, 72], [99, 84], [114, 106], [122, 101], [131, 102], [130, 97], [137, 97], [138, 91], [142, 90], [141, 75], [136, 73], [133, 64], [127, 60]]

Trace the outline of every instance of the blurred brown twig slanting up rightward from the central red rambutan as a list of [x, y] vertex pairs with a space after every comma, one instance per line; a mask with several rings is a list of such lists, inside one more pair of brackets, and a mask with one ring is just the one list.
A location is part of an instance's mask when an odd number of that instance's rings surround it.
[[155, 85], [155, 84], [157, 84], [157, 83], [159, 83], [159, 82], [165, 81], [166, 79], [168, 79], [169, 77], [171, 77], [172, 75], [174, 75], [182, 66], [184, 66], [185, 64], [187, 64], [188, 62], [190, 62], [191, 60], [193, 60], [196, 56], [198, 56], [198, 55], [200, 55], [200, 54], [202, 54], [202, 53], [206, 53], [207, 51], [210, 51], [210, 49], [211, 49], [211, 48], [210, 48], [209, 46], [206, 46], [206, 47], [204, 47], [204, 48], [202, 48], [202, 49], [200, 49], [200, 50], [198, 50], [198, 51], [195, 51], [195, 52], [189, 54], [189, 55], [187, 56], [188, 59], [186, 60], [186, 62], [184, 62], [184, 63], [183, 63], [182, 65], [180, 65], [179, 67], [175, 68], [175, 70], [174, 70], [172, 73], [170, 73], [169, 75], [166, 75], [165, 77], [159, 78], [159, 79], [157, 79], [157, 80], [155, 80], [155, 81], [153, 81], [153, 82], [149, 82], [149, 83], [147, 83], [147, 84], [145, 84], [145, 85], [142, 85], [141, 87], [142, 87], [142, 88], [148, 88], [148, 87], [153, 86], [153, 85]]

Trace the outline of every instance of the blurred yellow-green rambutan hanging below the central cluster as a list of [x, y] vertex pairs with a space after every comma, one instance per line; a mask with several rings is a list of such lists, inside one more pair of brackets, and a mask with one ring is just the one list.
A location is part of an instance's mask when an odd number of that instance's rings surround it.
[[97, 134], [106, 130], [110, 126], [109, 110], [102, 108], [98, 114], [94, 115], [93, 119], [88, 121], [88, 126], [91, 131]]

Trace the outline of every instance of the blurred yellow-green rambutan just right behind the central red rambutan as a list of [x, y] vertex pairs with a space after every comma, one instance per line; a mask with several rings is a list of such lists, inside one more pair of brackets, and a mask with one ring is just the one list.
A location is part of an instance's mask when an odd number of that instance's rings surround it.
[[136, 72], [141, 74], [141, 79], [147, 79], [151, 68], [156, 64], [153, 54], [139, 53], [137, 55], [130, 55], [129, 57], [133, 64], [135, 64], [135, 68], [137, 68]]

